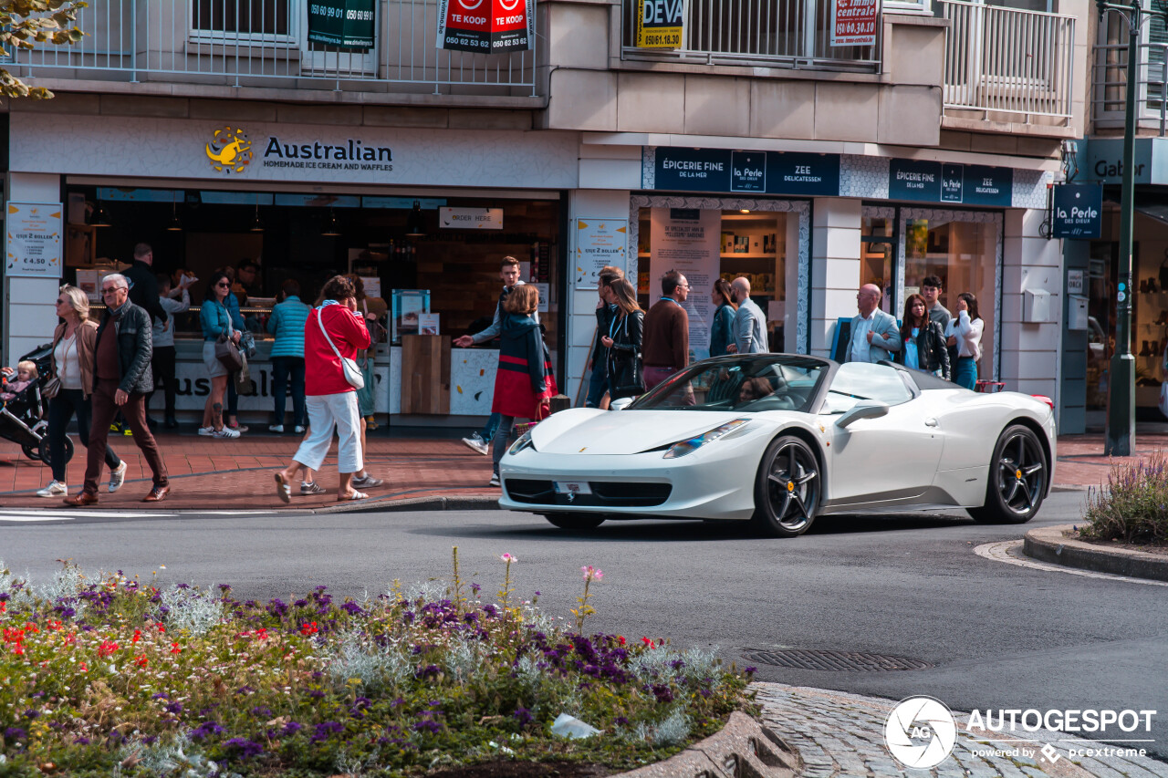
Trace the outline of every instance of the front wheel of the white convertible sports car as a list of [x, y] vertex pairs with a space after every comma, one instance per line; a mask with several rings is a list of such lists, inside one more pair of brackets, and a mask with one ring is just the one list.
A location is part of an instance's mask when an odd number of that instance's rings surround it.
[[797, 537], [815, 520], [822, 496], [819, 460], [801, 438], [771, 442], [755, 478], [752, 527], [767, 537]]

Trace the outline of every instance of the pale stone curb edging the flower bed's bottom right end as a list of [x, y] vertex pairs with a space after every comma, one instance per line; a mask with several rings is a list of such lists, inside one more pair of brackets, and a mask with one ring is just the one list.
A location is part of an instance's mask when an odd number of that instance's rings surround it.
[[778, 735], [742, 711], [730, 714], [722, 731], [665, 762], [613, 778], [794, 778], [802, 758]]

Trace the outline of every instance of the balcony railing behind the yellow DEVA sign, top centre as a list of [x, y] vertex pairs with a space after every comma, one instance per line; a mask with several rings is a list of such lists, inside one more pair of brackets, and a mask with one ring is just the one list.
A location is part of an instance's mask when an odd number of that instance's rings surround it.
[[625, 60], [696, 62], [764, 68], [880, 69], [882, 25], [875, 46], [830, 46], [830, 0], [689, 0], [681, 47], [639, 49], [637, 0], [623, 0]]

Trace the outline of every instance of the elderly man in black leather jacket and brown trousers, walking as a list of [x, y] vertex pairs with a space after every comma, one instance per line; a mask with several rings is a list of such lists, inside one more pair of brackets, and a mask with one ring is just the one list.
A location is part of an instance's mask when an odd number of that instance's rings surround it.
[[154, 388], [150, 367], [153, 354], [151, 317], [130, 301], [130, 283], [120, 273], [102, 279], [102, 297], [105, 314], [93, 345], [93, 385], [90, 388], [92, 426], [85, 485], [64, 502], [69, 506], [97, 502], [97, 479], [105, 460], [105, 442], [118, 410], [121, 410], [134, 443], [141, 449], [154, 477], [154, 487], [142, 502], [160, 502], [169, 493], [171, 482], [162, 452], [146, 424], [146, 395]]

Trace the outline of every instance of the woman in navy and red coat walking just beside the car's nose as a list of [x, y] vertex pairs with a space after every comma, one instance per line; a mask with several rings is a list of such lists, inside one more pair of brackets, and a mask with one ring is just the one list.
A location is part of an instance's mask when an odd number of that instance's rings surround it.
[[556, 382], [548, 369], [543, 332], [535, 320], [540, 292], [534, 284], [515, 286], [503, 300], [503, 319], [499, 335], [499, 369], [495, 373], [495, 398], [492, 414], [502, 419], [495, 430], [491, 486], [499, 486], [499, 460], [507, 450], [516, 418], [542, 419], [548, 416]]

